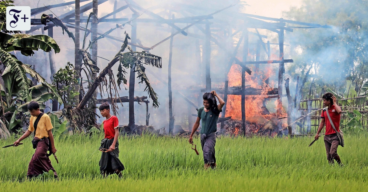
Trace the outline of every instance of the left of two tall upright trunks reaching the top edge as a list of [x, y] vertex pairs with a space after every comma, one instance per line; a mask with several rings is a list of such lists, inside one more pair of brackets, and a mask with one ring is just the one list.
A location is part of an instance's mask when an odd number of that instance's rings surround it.
[[[75, 0], [75, 46], [74, 46], [74, 71], [77, 72], [75, 74], [74, 78], [79, 79], [80, 71], [82, 67], [81, 63], [81, 57], [78, 54], [79, 48], [80, 48], [80, 0]], [[79, 83], [75, 83], [74, 85], [75, 91], [79, 92], [80, 86]], [[79, 96], [75, 96], [74, 99], [77, 100], [77, 103], [79, 103]]]

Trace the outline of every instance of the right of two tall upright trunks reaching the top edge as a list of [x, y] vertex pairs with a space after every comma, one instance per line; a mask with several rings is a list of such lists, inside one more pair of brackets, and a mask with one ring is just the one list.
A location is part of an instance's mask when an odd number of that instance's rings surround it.
[[[97, 28], [98, 28], [98, 20], [97, 20], [97, 15], [98, 15], [98, 0], [93, 0], [92, 1], [92, 11], [93, 13], [95, 13], [96, 16], [92, 17], [92, 24], [91, 24], [91, 28], [92, 28], [92, 34], [91, 34], [91, 41], [93, 41], [95, 38], [97, 38]], [[96, 62], [97, 65], [97, 42], [93, 43], [93, 45], [91, 46], [91, 58], [93, 61]], [[93, 74], [92, 73], [92, 81], [95, 81], [95, 79], [97, 78], [97, 74]], [[91, 101], [91, 109], [96, 113], [96, 99], [97, 99], [97, 90], [95, 90], [95, 92], [93, 92], [93, 96]]]

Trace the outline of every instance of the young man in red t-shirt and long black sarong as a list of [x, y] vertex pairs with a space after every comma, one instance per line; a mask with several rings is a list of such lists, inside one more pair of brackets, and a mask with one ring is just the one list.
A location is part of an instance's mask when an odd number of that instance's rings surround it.
[[101, 141], [100, 151], [102, 151], [100, 159], [100, 173], [106, 175], [116, 173], [122, 176], [124, 165], [119, 160], [119, 121], [116, 116], [110, 114], [110, 105], [105, 102], [99, 107], [102, 117], [106, 117], [103, 121], [103, 130], [105, 138]]

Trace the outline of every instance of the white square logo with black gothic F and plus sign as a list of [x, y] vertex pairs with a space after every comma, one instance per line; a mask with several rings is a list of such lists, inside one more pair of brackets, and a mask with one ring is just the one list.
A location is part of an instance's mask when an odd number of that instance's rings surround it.
[[31, 7], [6, 7], [6, 29], [8, 31], [29, 31], [31, 29]]

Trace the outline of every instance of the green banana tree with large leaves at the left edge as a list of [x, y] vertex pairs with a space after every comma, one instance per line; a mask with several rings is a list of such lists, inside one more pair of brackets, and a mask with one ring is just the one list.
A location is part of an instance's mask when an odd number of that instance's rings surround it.
[[[35, 50], [46, 52], [52, 49], [55, 53], [60, 52], [60, 48], [54, 39], [46, 35], [27, 35], [27, 34], [7, 34], [0, 32], [0, 65], [5, 69], [1, 74], [4, 86], [1, 86], [1, 110], [0, 117], [2, 123], [7, 125], [8, 130], [25, 127], [29, 114], [26, 112], [26, 104], [32, 100], [42, 104], [49, 99], [56, 98], [60, 103], [61, 99], [53, 85], [31, 68], [17, 59], [11, 51], [20, 51], [25, 56], [32, 56]], [[33, 86], [27, 74], [35, 78], [39, 83]]]

